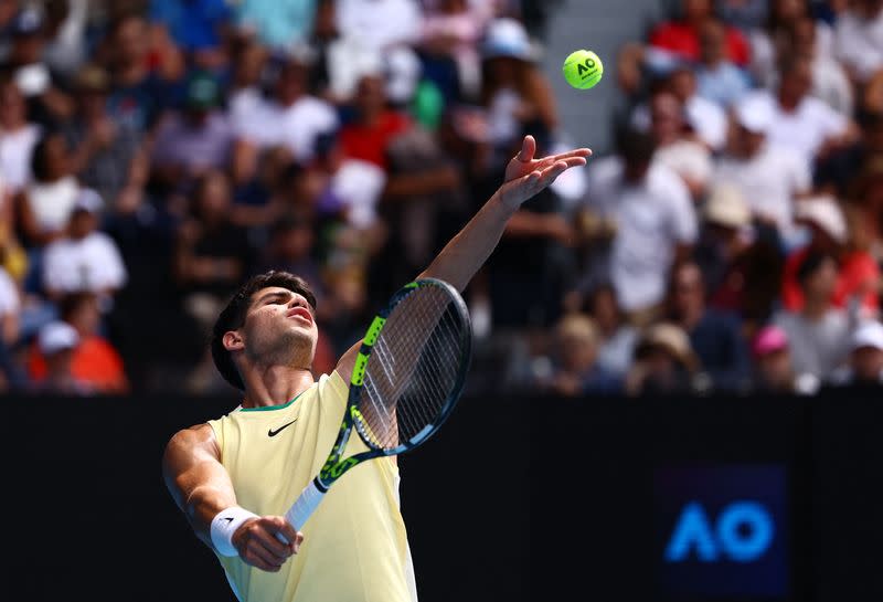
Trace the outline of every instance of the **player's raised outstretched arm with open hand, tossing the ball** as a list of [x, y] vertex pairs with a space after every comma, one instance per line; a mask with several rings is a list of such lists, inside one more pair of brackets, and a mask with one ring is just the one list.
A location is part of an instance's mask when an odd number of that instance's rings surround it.
[[[509, 219], [521, 204], [555, 181], [572, 167], [586, 165], [592, 155], [577, 148], [560, 155], [535, 158], [536, 141], [525, 136], [521, 150], [506, 168], [503, 184], [471, 220], [442, 250], [419, 278], [438, 278], [464, 291], [476, 272], [485, 264], [500, 242]], [[351, 347], [337, 366], [338, 373], [349, 382], [361, 341]]]

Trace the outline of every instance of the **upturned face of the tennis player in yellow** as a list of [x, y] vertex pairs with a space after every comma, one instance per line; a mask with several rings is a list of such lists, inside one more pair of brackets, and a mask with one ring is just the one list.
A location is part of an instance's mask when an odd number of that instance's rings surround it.
[[242, 332], [253, 360], [298, 367], [312, 363], [319, 336], [307, 299], [280, 286], [255, 293]]

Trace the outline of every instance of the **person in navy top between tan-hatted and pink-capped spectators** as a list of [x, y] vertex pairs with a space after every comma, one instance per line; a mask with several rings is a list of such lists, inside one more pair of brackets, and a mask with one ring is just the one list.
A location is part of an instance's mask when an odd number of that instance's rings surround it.
[[698, 368], [708, 374], [714, 390], [748, 389], [748, 353], [740, 319], [706, 307], [702, 272], [693, 262], [682, 263], [672, 271], [669, 318], [690, 337], [690, 346], [699, 358]]

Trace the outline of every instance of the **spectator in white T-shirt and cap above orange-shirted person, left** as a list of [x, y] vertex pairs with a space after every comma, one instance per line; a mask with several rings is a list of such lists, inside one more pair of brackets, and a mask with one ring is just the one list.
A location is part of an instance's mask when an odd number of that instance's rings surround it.
[[128, 274], [114, 240], [98, 231], [104, 202], [92, 189], [82, 189], [71, 212], [66, 235], [46, 246], [43, 288], [51, 299], [67, 293], [91, 292], [105, 310], [126, 284]]

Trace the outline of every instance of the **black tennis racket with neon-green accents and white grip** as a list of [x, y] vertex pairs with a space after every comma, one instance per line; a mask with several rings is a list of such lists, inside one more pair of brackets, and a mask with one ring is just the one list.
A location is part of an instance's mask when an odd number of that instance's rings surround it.
[[[462, 392], [471, 345], [469, 314], [451, 285], [423, 278], [393, 295], [362, 339], [331, 454], [286, 519], [300, 529], [347, 471], [409, 452], [438, 431]], [[353, 430], [369, 450], [344, 458]]]

